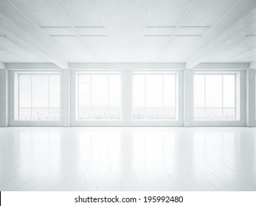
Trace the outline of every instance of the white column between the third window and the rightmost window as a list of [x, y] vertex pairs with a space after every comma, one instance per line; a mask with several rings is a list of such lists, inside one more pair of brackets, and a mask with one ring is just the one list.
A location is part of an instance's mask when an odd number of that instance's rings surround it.
[[191, 71], [184, 69], [184, 127], [190, 127], [190, 113], [191, 113]]

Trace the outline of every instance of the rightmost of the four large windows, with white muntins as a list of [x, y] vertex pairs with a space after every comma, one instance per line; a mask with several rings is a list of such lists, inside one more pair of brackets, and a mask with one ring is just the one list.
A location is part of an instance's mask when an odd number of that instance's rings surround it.
[[236, 75], [194, 75], [194, 119], [236, 120]]

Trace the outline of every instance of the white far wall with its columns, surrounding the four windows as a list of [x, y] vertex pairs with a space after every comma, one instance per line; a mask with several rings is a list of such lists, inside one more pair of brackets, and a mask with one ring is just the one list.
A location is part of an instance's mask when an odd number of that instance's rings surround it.
[[[184, 63], [70, 63], [69, 69], [60, 69], [49, 63], [7, 63], [9, 74], [10, 126], [252, 126], [255, 124], [255, 78], [246, 75], [247, 63], [202, 63], [196, 68], [186, 69]], [[241, 73], [241, 120], [195, 122], [193, 108], [193, 71], [240, 71]], [[5, 71], [5, 70], [4, 70]], [[15, 121], [14, 120], [14, 71], [60, 71], [61, 74], [61, 119], [60, 121]], [[75, 120], [75, 72], [76, 71], [120, 71], [122, 74], [122, 121], [76, 121]], [[176, 71], [179, 74], [179, 121], [132, 121], [131, 120], [131, 75], [134, 71]], [[254, 72], [254, 70], [252, 70]], [[1, 78], [3, 76], [1, 72]], [[252, 73], [252, 72], [251, 72]], [[250, 73], [250, 74], [251, 74]], [[249, 84], [248, 84], [249, 82]], [[3, 84], [1, 82], [1, 84]], [[3, 91], [4, 90], [4, 91]], [[1, 96], [7, 87], [1, 87]], [[1, 98], [2, 99], [2, 98]], [[8, 99], [8, 98], [7, 98]], [[246, 100], [247, 99], [247, 100]], [[3, 101], [1, 101], [3, 102]], [[1, 103], [2, 104], [2, 103]], [[253, 104], [253, 105], [252, 105]], [[252, 107], [253, 106], [253, 107]], [[1, 108], [4, 108], [1, 106]], [[250, 108], [250, 109], [248, 109]], [[7, 109], [6, 109], [7, 111]], [[5, 118], [2, 115], [1, 119]], [[4, 112], [5, 113], [5, 112]], [[252, 122], [253, 121], [253, 122]]]

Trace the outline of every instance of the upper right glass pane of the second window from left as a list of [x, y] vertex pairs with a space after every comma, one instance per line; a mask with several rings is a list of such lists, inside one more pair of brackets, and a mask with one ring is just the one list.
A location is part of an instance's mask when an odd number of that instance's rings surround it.
[[121, 107], [120, 75], [109, 75], [109, 107]]

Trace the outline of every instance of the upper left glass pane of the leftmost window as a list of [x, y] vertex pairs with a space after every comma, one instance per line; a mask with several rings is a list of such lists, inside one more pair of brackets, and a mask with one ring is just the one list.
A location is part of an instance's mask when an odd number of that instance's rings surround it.
[[19, 107], [31, 107], [31, 76], [19, 74]]

